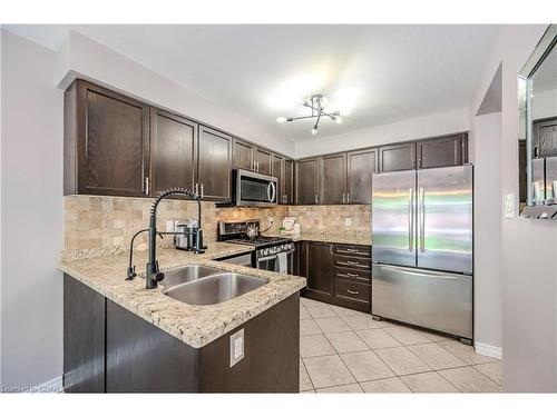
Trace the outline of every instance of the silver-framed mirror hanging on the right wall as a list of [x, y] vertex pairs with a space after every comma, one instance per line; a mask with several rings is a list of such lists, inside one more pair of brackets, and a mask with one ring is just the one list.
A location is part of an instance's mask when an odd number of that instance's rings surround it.
[[522, 217], [557, 220], [557, 26], [551, 24], [518, 77]]

